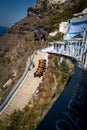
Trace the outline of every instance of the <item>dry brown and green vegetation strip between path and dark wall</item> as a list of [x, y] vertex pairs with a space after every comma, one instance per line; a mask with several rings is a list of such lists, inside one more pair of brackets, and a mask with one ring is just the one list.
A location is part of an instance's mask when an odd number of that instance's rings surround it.
[[22, 111], [16, 110], [1, 121], [1, 130], [35, 130], [74, 72], [75, 66], [70, 60], [59, 61], [59, 56], [49, 55], [46, 74], [34, 97]]

